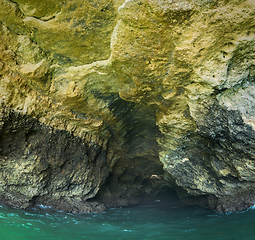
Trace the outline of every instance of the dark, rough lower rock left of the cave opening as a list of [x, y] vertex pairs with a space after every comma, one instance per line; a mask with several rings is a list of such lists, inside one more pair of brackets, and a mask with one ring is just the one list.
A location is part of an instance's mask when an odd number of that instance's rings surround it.
[[50, 205], [59, 210], [86, 212], [86, 200], [96, 195], [109, 175], [107, 149], [3, 109], [1, 200], [18, 208], [52, 201]]

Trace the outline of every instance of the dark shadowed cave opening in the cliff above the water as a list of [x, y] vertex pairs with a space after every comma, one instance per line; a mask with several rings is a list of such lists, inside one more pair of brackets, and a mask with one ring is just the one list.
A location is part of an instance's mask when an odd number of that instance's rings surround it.
[[156, 109], [127, 102], [114, 95], [108, 101], [122, 128], [120, 133], [113, 130], [110, 145], [114, 149], [116, 162], [93, 200], [107, 207], [160, 199], [179, 201], [164, 179], [163, 164], [158, 157], [157, 139], [161, 133], [156, 125]]

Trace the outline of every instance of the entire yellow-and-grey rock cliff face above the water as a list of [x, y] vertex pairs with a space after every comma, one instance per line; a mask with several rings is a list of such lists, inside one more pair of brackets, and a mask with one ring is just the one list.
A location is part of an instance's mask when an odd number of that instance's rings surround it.
[[174, 189], [255, 201], [255, 3], [0, 0], [0, 198], [103, 211]]

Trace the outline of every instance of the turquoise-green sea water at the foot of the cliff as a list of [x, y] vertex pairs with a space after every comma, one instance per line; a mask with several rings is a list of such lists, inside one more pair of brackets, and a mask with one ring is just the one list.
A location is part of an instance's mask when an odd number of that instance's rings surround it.
[[0, 239], [255, 239], [255, 209], [218, 214], [199, 207], [151, 204], [71, 215], [0, 207]]

